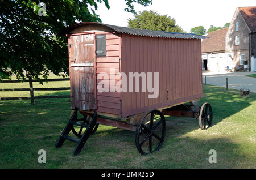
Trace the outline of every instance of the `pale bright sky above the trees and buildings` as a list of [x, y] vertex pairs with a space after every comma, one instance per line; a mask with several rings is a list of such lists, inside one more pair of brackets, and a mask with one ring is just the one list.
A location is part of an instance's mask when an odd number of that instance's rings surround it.
[[[127, 20], [133, 19], [134, 14], [125, 12], [127, 7], [123, 0], [108, 0], [110, 9], [104, 3], [98, 4], [96, 14], [102, 23], [127, 27]], [[152, 10], [160, 15], [168, 15], [176, 19], [184, 31], [202, 25], [206, 30], [210, 25], [223, 27], [230, 23], [237, 7], [256, 6], [255, 0], [152, 0], [152, 5], [142, 6], [134, 3], [134, 10]]]

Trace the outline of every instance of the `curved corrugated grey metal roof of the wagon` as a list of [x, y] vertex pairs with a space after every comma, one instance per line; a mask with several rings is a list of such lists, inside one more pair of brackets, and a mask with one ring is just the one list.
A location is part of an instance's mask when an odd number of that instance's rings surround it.
[[71, 31], [73, 31], [76, 28], [90, 25], [90, 24], [101, 24], [105, 27], [109, 27], [109, 28], [113, 29], [116, 32], [126, 33], [129, 35], [166, 37], [166, 38], [185, 38], [185, 39], [205, 39], [205, 38], [207, 38], [205, 36], [196, 35], [196, 34], [192, 34], [192, 33], [152, 31], [152, 30], [146, 30], [146, 29], [133, 29], [133, 28], [119, 27], [116, 25], [109, 25], [109, 24], [102, 24], [102, 23], [95, 23], [95, 22], [81, 22], [81, 23], [73, 24], [73, 25], [63, 29], [63, 31], [59, 32], [59, 35], [65, 36], [66, 34], [70, 33]]

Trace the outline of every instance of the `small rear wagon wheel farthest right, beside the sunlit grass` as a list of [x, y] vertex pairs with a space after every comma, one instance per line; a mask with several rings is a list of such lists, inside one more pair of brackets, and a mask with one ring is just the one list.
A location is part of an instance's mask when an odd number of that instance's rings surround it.
[[201, 105], [198, 118], [201, 130], [205, 130], [212, 126], [212, 118], [212, 106], [210, 106], [208, 102], [205, 102], [203, 105]]

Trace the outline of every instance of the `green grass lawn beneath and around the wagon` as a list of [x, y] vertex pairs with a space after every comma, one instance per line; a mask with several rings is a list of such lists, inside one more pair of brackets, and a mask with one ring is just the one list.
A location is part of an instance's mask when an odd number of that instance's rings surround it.
[[[67, 87], [62, 85], [52, 84]], [[55, 149], [71, 113], [69, 98], [37, 99], [34, 106], [30, 100], [2, 100], [0, 168], [256, 168], [256, 94], [240, 97], [237, 90], [213, 85], [204, 86], [204, 93], [200, 104], [212, 105], [213, 126], [202, 131], [197, 119], [166, 117], [162, 148], [146, 156], [137, 151], [135, 132], [100, 125], [73, 157], [75, 143]], [[40, 149], [45, 164], [38, 162]], [[210, 149], [217, 163], [208, 162]]]

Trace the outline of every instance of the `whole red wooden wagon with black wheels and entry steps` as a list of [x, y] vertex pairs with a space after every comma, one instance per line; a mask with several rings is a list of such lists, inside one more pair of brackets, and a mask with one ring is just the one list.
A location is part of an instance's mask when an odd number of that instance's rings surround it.
[[146, 155], [163, 144], [164, 115], [198, 118], [201, 129], [212, 124], [211, 106], [196, 104], [204, 97], [201, 39], [206, 37], [93, 22], [71, 25], [60, 35], [68, 37], [72, 114], [56, 148], [71, 140], [78, 155], [103, 124], [135, 131], [136, 147]]

